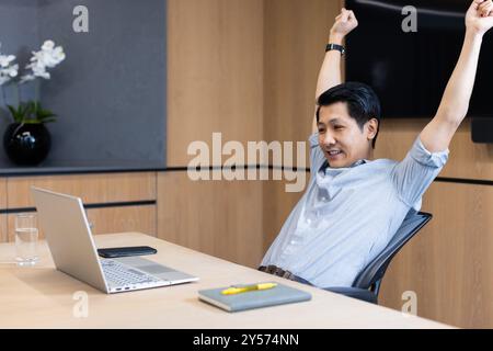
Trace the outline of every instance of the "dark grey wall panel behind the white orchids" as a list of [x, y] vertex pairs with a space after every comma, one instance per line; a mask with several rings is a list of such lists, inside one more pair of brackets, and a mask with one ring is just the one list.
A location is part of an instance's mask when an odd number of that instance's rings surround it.
[[[51, 79], [42, 84], [43, 104], [59, 115], [48, 125], [54, 143], [45, 163], [164, 165], [165, 1], [25, 2], [31, 3], [25, 11], [34, 23], [14, 21], [1, 36], [11, 37], [19, 29], [27, 31], [25, 27], [34, 25], [30, 33], [35, 39], [27, 41], [31, 49], [54, 39], [67, 54], [51, 71]], [[79, 4], [89, 9], [89, 33], [72, 29], [72, 11]], [[8, 2], [0, 15], [19, 13], [20, 8]], [[25, 45], [31, 34], [19, 35], [11, 44]]]

